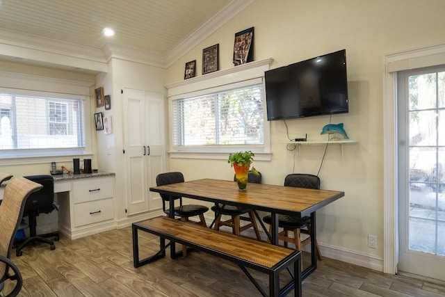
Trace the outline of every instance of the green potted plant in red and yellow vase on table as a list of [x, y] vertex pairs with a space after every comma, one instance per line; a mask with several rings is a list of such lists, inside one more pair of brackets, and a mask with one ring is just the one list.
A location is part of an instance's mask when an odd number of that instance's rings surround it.
[[[227, 163], [230, 163], [230, 166], [235, 169], [236, 182], [238, 183], [238, 188], [241, 191], [245, 191], [246, 187], [248, 186], [249, 170], [254, 156], [255, 154], [251, 151], [229, 154], [229, 160]], [[253, 166], [252, 172], [254, 172], [256, 175], [258, 174], [257, 169], [255, 169]]]

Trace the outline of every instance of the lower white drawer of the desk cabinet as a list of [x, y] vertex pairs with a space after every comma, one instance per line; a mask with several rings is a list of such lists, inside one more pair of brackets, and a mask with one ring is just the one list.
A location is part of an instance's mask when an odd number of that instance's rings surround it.
[[108, 198], [74, 204], [75, 227], [114, 218], [114, 199]]

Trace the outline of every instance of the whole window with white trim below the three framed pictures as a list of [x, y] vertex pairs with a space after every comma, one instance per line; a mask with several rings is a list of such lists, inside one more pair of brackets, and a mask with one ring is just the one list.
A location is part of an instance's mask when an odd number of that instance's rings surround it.
[[272, 59], [254, 61], [165, 86], [170, 158], [219, 159], [251, 150], [270, 161], [264, 72]]

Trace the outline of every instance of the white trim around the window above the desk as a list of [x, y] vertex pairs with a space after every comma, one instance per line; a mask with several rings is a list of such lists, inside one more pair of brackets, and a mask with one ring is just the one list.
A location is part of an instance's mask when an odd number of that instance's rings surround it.
[[92, 156], [91, 121], [88, 120], [90, 111], [90, 87], [93, 83], [86, 81], [72, 81], [68, 79], [56, 79], [51, 77], [39, 77], [30, 74], [17, 74], [0, 71], [0, 88], [12, 93], [20, 90], [22, 94], [39, 95], [53, 93], [63, 97], [84, 99], [85, 112], [85, 148], [67, 150], [54, 150], [53, 152], [39, 152], [38, 150], [24, 151], [19, 156], [2, 153], [0, 166], [21, 165], [30, 163], [51, 163], [51, 161], [70, 161], [72, 158], [90, 158]]

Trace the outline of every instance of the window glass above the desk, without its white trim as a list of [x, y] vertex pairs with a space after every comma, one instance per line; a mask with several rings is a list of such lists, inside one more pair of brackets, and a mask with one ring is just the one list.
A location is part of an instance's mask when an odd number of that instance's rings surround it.
[[0, 91], [0, 151], [83, 149], [84, 110], [78, 97]]

